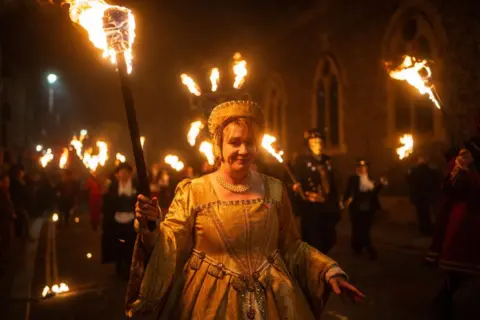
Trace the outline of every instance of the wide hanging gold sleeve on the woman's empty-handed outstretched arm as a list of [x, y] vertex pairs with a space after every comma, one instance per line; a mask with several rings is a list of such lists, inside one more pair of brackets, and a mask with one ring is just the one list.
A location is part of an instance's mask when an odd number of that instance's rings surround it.
[[279, 249], [289, 272], [296, 278], [317, 313], [323, 310], [330, 294], [328, 280], [332, 276], [345, 275], [345, 273], [335, 261], [301, 241], [285, 189], [282, 190], [281, 199], [278, 213]]

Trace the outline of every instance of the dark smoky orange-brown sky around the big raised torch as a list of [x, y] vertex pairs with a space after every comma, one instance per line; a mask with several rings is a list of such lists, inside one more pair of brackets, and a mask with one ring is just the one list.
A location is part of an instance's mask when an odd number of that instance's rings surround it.
[[[136, 16], [131, 79], [149, 159], [159, 159], [166, 149], [188, 150], [185, 131], [191, 115], [180, 73], [206, 80], [207, 67], [227, 67], [236, 51], [248, 60], [249, 53], [270, 37], [271, 30], [288, 25], [294, 12], [313, 2], [111, 1], [129, 7]], [[4, 46], [15, 60], [11, 72], [27, 70], [27, 77], [40, 92], [45, 89], [42, 77], [47, 70], [59, 74], [59, 101], [72, 120], [70, 129], [86, 127], [105, 133], [121, 151], [130, 152], [115, 68], [101, 58], [86, 33], [73, 26], [65, 10], [23, 8], [9, 14], [3, 30], [7, 38]]]

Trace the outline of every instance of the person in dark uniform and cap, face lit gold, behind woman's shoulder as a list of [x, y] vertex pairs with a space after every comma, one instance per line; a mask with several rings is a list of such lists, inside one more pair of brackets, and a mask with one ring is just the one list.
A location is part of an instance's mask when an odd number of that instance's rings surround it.
[[[298, 180], [295, 207], [301, 214], [302, 238], [305, 242], [328, 253], [336, 243], [336, 225], [340, 221], [339, 194], [331, 159], [323, 153], [324, 137], [316, 129], [305, 133], [307, 152], [293, 165]], [[300, 197], [300, 193], [305, 195]]]

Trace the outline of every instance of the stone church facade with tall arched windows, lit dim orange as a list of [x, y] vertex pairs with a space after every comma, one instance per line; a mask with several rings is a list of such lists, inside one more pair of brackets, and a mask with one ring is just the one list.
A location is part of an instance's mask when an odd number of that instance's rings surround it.
[[[263, 101], [268, 130], [287, 154], [301, 152], [303, 131], [325, 131], [340, 182], [356, 157], [386, 175], [392, 194], [405, 195], [396, 148], [413, 134], [415, 151], [439, 167], [449, 148], [472, 133], [479, 107], [480, 4], [473, 0], [317, 1], [292, 17], [261, 47]], [[412, 55], [431, 61], [445, 115], [427, 97], [393, 80], [384, 62]]]

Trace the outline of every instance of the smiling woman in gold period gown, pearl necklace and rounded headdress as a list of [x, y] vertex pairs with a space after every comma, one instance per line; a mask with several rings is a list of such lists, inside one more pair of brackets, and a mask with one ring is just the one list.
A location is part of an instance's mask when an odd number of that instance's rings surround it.
[[156, 201], [139, 196], [135, 224], [152, 254], [127, 314], [307, 320], [319, 317], [332, 288], [362, 299], [335, 261], [301, 241], [282, 183], [251, 170], [264, 127], [259, 106], [222, 103], [208, 123], [219, 168], [181, 182], [154, 232], [145, 225], [160, 214]]

